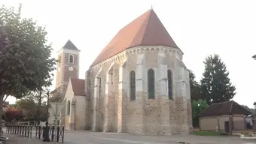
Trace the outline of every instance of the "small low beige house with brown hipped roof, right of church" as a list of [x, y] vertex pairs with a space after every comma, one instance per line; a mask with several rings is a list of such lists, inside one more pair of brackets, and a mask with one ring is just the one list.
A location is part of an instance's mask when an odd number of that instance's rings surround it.
[[245, 130], [245, 115], [251, 112], [235, 101], [212, 104], [200, 113], [200, 130], [218, 130], [231, 133], [232, 130]]

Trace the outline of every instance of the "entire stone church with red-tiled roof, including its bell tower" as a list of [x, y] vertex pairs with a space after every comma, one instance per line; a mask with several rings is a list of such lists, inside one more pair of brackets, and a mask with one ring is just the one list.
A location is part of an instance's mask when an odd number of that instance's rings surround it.
[[[124, 26], [78, 78], [80, 50], [58, 51], [56, 89], [66, 130], [187, 134], [192, 130], [190, 83], [183, 52], [154, 10]], [[53, 123], [50, 113], [50, 123]]]

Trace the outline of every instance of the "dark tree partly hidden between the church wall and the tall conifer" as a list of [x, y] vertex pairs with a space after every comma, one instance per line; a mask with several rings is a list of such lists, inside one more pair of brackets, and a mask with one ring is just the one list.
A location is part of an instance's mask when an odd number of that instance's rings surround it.
[[200, 92], [200, 84], [197, 83], [196, 76], [192, 71], [189, 71], [189, 78], [190, 78], [190, 93], [191, 93], [191, 101], [193, 100], [200, 100], [201, 92]]

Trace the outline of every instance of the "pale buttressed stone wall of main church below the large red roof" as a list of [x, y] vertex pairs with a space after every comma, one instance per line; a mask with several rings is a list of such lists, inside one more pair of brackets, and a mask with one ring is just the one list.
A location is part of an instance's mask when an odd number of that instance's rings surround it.
[[[182, 87], [181, 89], [183, 84], [179, 84], [178, 71], [180, 70], [176, 71], [176, 68], [180, 68], [183, 63], [175, 62], [176, 57], [182, 59], [180, 52], [179, 55], [176, 52], [178, 50], [166, 48], [165, 46], [152, 46], [152, 48], [140, 46], [127, 50], [124, 57], [121, 55], [118, 58], [109, 58], [106, 62], [93, 66], [90, 69], [90, 77], [88, 77], [91, 94], [90, 124], [92, 126], [93, 124], [97, 125], [97, 128], [94, 127], [93, 130], [146, 134], [189, 133], [190, 125], [192, 124], [190, 116], [191, 104], [190, 98], [186, 96], [186, 92], [183, 92], [186, 91], [186, 88]], [[119, 73], [122, 69], [120, 69], [120, 66], [123, 65], [123, 71], [121, 71], [121, 76], [118, 79], [119, 74], [117, 69], [114, 68], [113, 70], [116, 70], [114, 77], [111, 77], [112, 80], [107, 82], [106, 73], [113, 62], [117, 63]], [[102, 68], [100, 77], [104, 88], [101, 88], [102, 95], [95, 100], [97, 96], [95, 91], [99, 89], [95, 87], [95, 77], [100, 68]], [[147, 72], [149, 68], [153, 68], [155, 72], [155, 99], [148, 99]], [[167, 71], [167, 69], [163, 68], [171, 69], [173, 72], [173, 80], [175, 81], [172, 86], [173, 100], [169, 100], [165, 89], [167, 84], [163, 75], [166, 73], [162, 73], [162, 71]], [[135, 101], [130, 101], [130, 71], [136, 71]], [[111, 89], [108, 87], [109, 84], [107, 85], [110, 82], [111, 84], [113, 83]], [[121, 86], [120, 89], [118, 88], [119, 86]], [[111, 107], [111, 110], [108, 110], [109, 98], [114, 101], [114, 107]], [[111, 118], [111, 115], [114, 115], [114, 118]], [[111, 122], [108, 123], [109, 121]]]

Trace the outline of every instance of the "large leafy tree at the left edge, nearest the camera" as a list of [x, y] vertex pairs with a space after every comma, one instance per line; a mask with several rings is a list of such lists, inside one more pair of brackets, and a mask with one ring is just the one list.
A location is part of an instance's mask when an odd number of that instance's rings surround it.
[[[4, 97], [23, 98], [26, 93], [51, 85], [55, 58], [50, 57], [47, 32], [32, 19], [21, 17], [21, 5], [0, 7], [0, 115]], [[0, 129], [2, 130], [2, 118]]]

